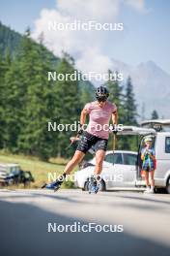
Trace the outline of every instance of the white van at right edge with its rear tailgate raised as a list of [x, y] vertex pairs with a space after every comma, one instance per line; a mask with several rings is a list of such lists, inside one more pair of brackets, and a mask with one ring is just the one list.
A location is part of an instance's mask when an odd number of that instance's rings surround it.
[[141, 127], [125, 126], [120, 135], [139, 135], [138, 161], [136, 166], [136, 186], [145, 185], [141, 175], [141, 149], [145, 137], [153, 137], [153, 146], [156, 150], [156, 188], [165, 188], [170, 194], [170, 119], [147, 120]]

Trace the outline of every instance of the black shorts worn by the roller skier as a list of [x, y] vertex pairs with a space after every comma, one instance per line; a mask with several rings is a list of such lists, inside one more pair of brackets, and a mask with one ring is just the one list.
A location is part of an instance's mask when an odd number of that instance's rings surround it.
[[95, 151], [102, 149], [106, 151], [108, 140], [94, 136], [88, 132], [84, 132], [76, 150], [86, 153], [92, 146]]

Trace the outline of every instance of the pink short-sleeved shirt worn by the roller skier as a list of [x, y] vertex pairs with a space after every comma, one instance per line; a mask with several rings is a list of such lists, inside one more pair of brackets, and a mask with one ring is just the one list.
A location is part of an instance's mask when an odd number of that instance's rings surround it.
[[117, 112], [115, 104], [106, 101], [101, 108], [97, 101], [87, 103], [84, 109], [89, 113], [89, 124], [87, 132], [101, 139], [108, 139], [109, 136], [109, 121], [111, 114]]

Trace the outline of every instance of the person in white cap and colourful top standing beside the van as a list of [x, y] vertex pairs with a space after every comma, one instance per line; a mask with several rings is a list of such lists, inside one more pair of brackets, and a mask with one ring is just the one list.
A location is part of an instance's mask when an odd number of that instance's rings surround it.
[[[141, 159], [143, 161], [142, 164], [142, 172], [145, 174], [145, 182], [146, 182], [146, 191], [145, 193], [153, 194], [155, 192], [155, 161], [156, 161], [156, 153], [155, 149], [152, 147], [152, 138], [147, 137], [145, 139], [145, 147], [141, 151]], [[151, 178], [151, 188], [149, 183], [149, 175]]]

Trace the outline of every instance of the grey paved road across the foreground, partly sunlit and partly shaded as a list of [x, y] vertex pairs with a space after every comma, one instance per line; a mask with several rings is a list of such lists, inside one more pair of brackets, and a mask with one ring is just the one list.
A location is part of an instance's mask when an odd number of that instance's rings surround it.
[[[48, 232], [48, 223], [75, 222], [123, 225], [124, 232]], [[0, 190], [0, 254], [169, 256], [170, 195]]]

